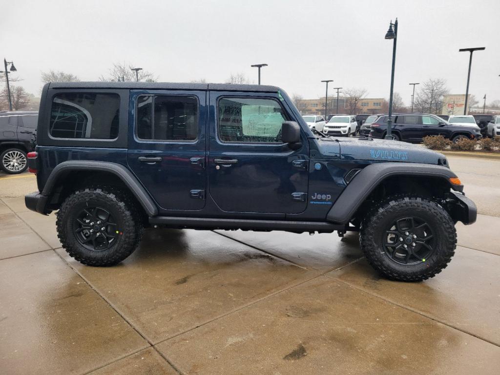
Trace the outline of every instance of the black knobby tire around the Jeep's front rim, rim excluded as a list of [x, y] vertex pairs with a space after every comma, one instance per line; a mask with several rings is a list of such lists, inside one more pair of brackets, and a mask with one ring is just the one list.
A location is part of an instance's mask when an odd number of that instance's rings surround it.
[[[436, 236], [431, 256], [418, 264], [398, 264], [382, 245], [387, 225], [405, 216], [418, 216], [432, 225]], [[375, 204], [361, 222], [359, 243], [368, 263], [385, 277], [398, 281], [421, 281], [446, 267], [456, 247], [454, 222], [435, 201], [416, 195], [394, 195]]]

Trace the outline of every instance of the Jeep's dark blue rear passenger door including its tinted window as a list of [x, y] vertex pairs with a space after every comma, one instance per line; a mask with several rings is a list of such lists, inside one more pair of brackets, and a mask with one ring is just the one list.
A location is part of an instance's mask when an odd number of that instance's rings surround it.
[[205, 100], [205, 91], [130, 90], [127, 163], [164, 210], [205, 205]]

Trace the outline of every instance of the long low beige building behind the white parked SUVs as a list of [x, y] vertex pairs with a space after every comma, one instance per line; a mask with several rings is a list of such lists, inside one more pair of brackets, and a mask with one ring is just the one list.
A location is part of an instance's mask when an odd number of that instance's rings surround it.
[[[324, 99], [299, 99], [297, 100], [297, 108], [300, 113], [304, 114], [323, 114], [324, 115]], [[380, 113], [382, 111], [383, 98], [364, 98], [359, 99], [354, 107], [354, 103], [349, 97], [338, 97], [338, 113], [358, 114], [358, 113]], [[332, 114], [336, 111], [337, 98], [328, 97], [328, 113]], [[350, 113], [353, 112], [353, 113]]]

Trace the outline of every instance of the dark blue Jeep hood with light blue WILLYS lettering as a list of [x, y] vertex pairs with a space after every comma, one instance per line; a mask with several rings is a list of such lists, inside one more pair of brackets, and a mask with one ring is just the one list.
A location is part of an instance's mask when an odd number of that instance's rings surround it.
[[[418, 144], [371, 138], [337, 138], [319, 140], [318, 150], [323, 157], [343, 160], [401, 161], [447, 165], [446, 157]], [[335, 152], [336, 151], [336, 152]]]

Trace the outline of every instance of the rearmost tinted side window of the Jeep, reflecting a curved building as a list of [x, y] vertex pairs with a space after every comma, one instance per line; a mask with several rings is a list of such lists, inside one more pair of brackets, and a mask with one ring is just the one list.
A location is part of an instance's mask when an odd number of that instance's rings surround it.
[[56, 138], [114, 139], [118, 136], [119, 104], [117, 94], [56, 94], [50, 113], [50, 135]]

